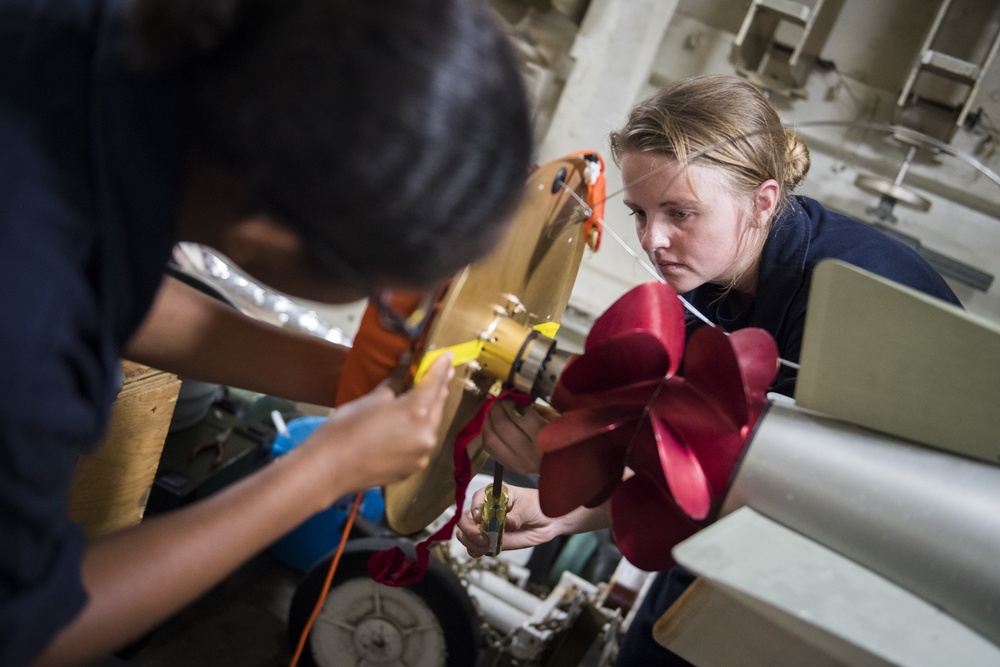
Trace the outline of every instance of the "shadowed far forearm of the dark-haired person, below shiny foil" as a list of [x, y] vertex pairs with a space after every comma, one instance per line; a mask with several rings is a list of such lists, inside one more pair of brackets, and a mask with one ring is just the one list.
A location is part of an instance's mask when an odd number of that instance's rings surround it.
[[124, 354], [183, 377], [332, 406], [347, 348], [254, 320], [168, 277]]

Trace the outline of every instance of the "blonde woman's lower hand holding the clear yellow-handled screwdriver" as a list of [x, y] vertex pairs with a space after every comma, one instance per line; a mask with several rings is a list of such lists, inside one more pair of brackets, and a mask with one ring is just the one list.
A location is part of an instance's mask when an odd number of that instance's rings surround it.
[[[479, 558], [489, 549], [489, 539], [482, 532], [483, 499], [485, 489], [472, 496], [469, 509], [458, 520], [455, 537], [473, 558]], [[559, 535], [555, 519], [542, 514], [538, 507], [538, 490], [519, 486], [507, 487], [507, 521], [504, 524], [503, 548], [524, 549], [548, 542]]]

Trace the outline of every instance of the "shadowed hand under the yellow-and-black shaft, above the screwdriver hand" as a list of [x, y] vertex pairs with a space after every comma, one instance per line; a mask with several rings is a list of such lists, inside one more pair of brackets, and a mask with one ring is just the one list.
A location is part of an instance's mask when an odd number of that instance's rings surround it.
[[525, 408], [510, 400], [497, 401], [483, 425], [483, 449], [504, 468], [523, 475], [538, 472], [542, 464], [538, 432], [556, 416], [551, 408], [537, 404]]

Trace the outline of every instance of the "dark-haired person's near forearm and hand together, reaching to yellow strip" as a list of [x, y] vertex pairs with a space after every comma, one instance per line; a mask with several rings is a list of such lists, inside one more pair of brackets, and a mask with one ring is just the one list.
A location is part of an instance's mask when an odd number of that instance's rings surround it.
[[81, 568], [90, 600], [38, 664], [80, 664], [123, 645], [345, 493], [425, 468], [438, 442], [451, 362], [445, 353], [403, 394], [376, 387], [331, 412], [271, 465], [92, 545]]

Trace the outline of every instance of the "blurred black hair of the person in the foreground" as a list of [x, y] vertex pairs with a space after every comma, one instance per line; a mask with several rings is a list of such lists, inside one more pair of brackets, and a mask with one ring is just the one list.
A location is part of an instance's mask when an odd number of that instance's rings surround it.
[[421, 284], [499, 238], [531, 128], [485, 0], [134, 2], [146, 65], [195, 73], [195, 149], [318, 256]]

